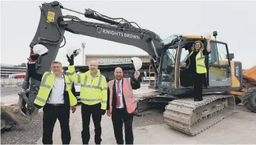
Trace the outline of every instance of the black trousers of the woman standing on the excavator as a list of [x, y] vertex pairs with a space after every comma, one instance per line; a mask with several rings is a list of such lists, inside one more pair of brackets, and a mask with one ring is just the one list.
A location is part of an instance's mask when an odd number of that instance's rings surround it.
[[193, 98], [195, 101], [202, 101], [203, 100], [203, 83], [206, 80], [206, 74], [202, 73], [194, 73], [193, 76]]

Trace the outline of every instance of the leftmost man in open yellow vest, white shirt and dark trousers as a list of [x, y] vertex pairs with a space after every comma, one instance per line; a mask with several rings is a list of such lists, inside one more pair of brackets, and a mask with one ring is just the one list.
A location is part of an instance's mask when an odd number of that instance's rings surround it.
[[[44, 75], [36, 73], [36, 59], [38, 54], [30, 55], [27, 64], [30, 77], [41, 81], [40, 89], [34, 101], [38, 109], [43, 107], [43, 144], [53, 144], [53, 129], [55, 122], [61, 125], [62, 144], [70, 144], [70, 107], [75, 112], [77, 100], [73, 95], [74, 88], [67, 75], [62, 74], [62, 65], [53, 61], [51, 69], [53, 73], [46, 72]], [[72, 91], [73, 88], [73, 91]]]

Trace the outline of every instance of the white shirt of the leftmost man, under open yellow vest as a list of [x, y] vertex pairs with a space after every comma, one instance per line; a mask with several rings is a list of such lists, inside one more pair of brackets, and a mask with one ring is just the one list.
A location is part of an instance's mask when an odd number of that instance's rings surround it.
[[55, 76], [53, 89], [52, 89], [52, 92], [50, 93], [47, 103], [48, 104], [64, 104], [64, 89], [65, 89], [64, 75], [61, 75], [60, 78]]

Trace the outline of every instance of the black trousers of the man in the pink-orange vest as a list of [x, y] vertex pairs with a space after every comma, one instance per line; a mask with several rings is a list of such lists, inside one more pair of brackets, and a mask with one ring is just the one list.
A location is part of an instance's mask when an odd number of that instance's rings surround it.
[[133, 114], [129, 114], [126, 108], [116, 108], [112, 110], [112, 124], [114, 127], [115, 141], [117, 144], [124, 144], [123, 123], [125, 133], [125, 144], [133, 144], [132, 121]]

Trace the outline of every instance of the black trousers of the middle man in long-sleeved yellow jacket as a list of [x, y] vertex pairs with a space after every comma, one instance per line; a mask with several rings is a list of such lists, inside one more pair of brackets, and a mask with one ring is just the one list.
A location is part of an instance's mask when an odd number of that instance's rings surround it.
[[94, 124], [95, 144], [101, 144], [101, 103], [95, 105], [81, 105], [81, 115], [83, 121], [83, 130], [81, 137], [83, 144], [88, 144], [90, 141], [90, 118], [92, 115], [92, 121]]

